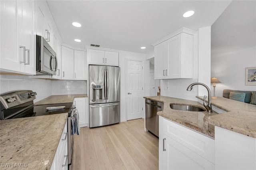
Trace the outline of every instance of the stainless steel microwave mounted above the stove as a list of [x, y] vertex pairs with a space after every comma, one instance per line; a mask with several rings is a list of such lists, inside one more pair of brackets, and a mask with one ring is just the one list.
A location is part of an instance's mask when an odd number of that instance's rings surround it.
[[58, 60], [56, 52], [42, 36], [36, 35], [36, 75], [56, 75]]

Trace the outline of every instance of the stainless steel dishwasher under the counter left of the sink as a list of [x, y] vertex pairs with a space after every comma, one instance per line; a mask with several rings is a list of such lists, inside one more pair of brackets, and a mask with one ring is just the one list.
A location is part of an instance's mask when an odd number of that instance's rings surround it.
[[152, 132], [154, 135], [159, 137], [159, 122], [158, 115], [156, 114], [159, 111], [163, 110], [163, 103], [156, 102], [154, 100], [145, 100], [146, 106], [146, 129]]

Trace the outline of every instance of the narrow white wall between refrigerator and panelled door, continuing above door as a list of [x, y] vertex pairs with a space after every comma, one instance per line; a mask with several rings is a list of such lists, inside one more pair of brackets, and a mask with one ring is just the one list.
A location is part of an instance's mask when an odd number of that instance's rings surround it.
[[[145, 54], [128, 52], [128, 51], [119, 51], [119, 67], [120, 67], [120, 120], [124, 122], [127, 120], [126, 114], [126, 80], [125, 80], [125, 68], [126, 60], [145, 60]], [[148, 68], [149, 72], [149, 68]]]

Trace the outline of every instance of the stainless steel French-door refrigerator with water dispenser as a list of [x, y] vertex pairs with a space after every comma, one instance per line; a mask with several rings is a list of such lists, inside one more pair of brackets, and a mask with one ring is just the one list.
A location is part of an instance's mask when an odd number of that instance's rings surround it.
[[89, 127], [120, 122], [120, 67], [89, 65]]

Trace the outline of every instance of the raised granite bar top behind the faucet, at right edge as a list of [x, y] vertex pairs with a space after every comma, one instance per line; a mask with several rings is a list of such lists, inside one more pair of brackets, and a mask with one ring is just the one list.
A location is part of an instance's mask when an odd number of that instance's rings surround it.
[[227, 112], [210, 116], [210, 124], [256, 138], [256, 105], [223, 97], [212, 97], [212, 105]]

